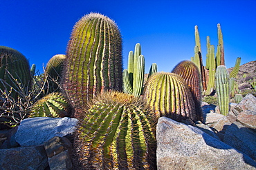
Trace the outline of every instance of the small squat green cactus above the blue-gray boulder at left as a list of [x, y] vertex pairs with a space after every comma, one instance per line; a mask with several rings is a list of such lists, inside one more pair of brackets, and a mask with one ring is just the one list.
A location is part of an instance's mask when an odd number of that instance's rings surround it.
[[65, 117], [68, 116], [68, 101], [59, 92], [48, 94], [30, 109], [30, 117]]

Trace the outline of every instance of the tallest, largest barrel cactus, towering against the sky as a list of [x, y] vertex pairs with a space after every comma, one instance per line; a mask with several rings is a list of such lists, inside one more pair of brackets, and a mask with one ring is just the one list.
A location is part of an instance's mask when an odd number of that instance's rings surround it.
[[86, 14], [75, 23], [64, 66], [64, 90], [73, 107], [107, 90], [122, 90], [122, 39], [114, 21]]

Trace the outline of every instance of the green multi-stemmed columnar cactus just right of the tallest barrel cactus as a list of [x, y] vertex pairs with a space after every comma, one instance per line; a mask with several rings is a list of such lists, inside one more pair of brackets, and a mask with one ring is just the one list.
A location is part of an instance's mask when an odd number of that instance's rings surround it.
[[[149, 70], [149, 76], [156, 72], [157, 65], [153, 63]], [[144, 75], [145, 58], [141, 55], [140, 43], [137, 43], [134, 52], [129, 52], [128, 68], [122, 73], [124, 92], [139, 97], [143, 93]]]

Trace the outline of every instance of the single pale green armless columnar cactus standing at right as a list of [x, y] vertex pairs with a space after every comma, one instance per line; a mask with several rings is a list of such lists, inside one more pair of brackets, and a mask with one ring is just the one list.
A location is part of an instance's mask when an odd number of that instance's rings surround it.
[[219, 105], [219, 111], [226, 116], [230, 109], [230, 97], [229, 97], [229, 74], [225, 65], [219, 65], [215, 74], [215, 84], [217, 99]]

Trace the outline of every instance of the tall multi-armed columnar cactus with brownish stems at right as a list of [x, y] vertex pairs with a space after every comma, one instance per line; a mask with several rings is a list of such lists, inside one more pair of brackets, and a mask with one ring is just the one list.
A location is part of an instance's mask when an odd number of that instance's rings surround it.
[[[201, 80], [202, 80], [202, 87], [205, 96], [211, 95], [214, 92], [214, 76], [216, 68], [219, 65], [225, 65], [224, 59], [224, 45], [223, 45], [223, 35], [221, 32], [221, 26], [218, 23], [218, 39], [219, 44], [217, 45], [217, 54], [214, 54], [214, 46], [210, 45], [210, 37], [207, 36], [207, 54], [206, 54], [206, 64], [203, 66], [202, 54], [201, 54], [201, 43], [199, 38], [199, 31], [198, 27], [195, 26], [195, 40], [196, 46], [194, 47], [194, 57], [192, 57], [192, 61], [199, 67], [199, 71], [201, 72]], [[241, 58], [237, 58], [235, 67], [233, 68], [232, 72], [230, 73], [230, 77], [237, 76], [239, 65], [241, 62]]]

